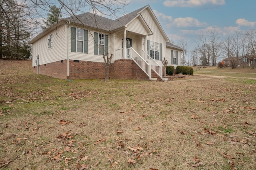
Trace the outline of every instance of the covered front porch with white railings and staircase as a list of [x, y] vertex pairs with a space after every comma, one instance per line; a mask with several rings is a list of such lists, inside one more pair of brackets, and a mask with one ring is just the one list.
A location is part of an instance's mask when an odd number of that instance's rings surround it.
[[[147, 35], [127, 31], [124, 29], [123, 33], [122, 31], [115, 33], [114, 37], [115, 63], [120, 64], [120, 61], [126, 61], [123, 63], [127, 63], [130, 60], [133, 61], [138, 66], [138, 68], [140, 68], [144, 74], [146, 74], [146, 76], [148, 76], [149, 80], [152, 80], [152, 78], [156, 77], [160, 79], [163, 78], [162, 66], [158, 64], [154, 59], [152, 59], [146, 52]], [[134, 70], [137, 69], [134, 68]], [[130, 71], [134, 72], [132, 70]]]

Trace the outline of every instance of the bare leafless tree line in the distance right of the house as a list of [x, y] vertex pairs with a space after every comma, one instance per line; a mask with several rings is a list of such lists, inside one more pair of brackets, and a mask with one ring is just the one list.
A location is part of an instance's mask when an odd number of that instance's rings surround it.
[[[183, 38], [179, 44], [184, 49], [182, 52], [182, 65], [216, 66], [217, 61], [221, 61], [222, 57], [224, 57], [228, 58], [235, 67], [239, 64], [239, 57], [246, 54], [252, 56], [254, 60], [256, 55], [256, 29], [236, 31], [234, 35], [228, 36], [224, 40], [220, 31], [216, 28], [202, 32], [195, 40], [196, 47], [190, 51], [190, 56], [188, 57], [186, 57], [186, 44], [186, 38]], [[254, 69], [253, 64], [252, 69]]]

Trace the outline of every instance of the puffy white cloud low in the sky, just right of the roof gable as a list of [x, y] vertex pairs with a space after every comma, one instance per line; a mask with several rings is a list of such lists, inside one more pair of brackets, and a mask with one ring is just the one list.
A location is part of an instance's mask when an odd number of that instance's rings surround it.
[[191, 17], [186, 18], [176, 18], [174, 21], [170, 24], [172, 26], [176, 26], [178, 28], [180, 27], [206, 27], [206, 22], [200, 22], [199, 20]]

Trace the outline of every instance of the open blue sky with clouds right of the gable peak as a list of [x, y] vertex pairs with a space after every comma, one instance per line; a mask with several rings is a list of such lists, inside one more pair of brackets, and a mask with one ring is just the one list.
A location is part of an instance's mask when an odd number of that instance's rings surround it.
[[202, 31], [216, 28], [224, 39], [256, 29], [256, 0], [132, 0], [126, 11], [148, 4], [170, 40], [178, 44], [180, 37], [188, 37], [189, 50]]

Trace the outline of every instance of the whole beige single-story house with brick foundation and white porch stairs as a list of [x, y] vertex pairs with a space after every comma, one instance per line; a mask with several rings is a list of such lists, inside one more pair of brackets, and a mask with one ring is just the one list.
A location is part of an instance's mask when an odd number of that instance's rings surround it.
[[64, 18], [30, 41], [33, 72], [62, 79], [105, 78], [102, 54], [113, 54], [110, 78], [162, 78], [181, 65], [180, 47], [170, 43], [149, 5], [110, 20], [92, 13]]

